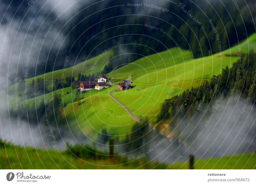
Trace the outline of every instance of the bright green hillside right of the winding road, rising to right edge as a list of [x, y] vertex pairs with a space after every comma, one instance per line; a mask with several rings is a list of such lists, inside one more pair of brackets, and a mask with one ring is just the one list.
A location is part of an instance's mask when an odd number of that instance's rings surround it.
[[[205, 80], [209, 80], [212, 75], [220, 74], [223, 68], [230, 67], [238, 60], [239, 48], [241, 53], [247, 53], [248, 47], [255, 50], [255, 45], [256, 34], [253, 34], [239, 46], [224, 51], [222, 57], [216, 53], [189, 60], [189, 54], [179, 55], [175, 49], [144, 57], [109, 73], [110, 77], [118, 79], [132, 76], [134, 86], [131, 90], [115, 92], [113, 95], [135, 115], [154, 117], [164, 99], [191, 87], [197, 87]], [[176, 53], [173, 54], [175, 57], [170, 53]]]

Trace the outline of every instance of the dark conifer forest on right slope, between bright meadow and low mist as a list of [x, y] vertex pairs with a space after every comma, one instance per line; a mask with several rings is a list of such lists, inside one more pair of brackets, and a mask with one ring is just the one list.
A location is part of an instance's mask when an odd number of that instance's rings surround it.
[[[209, 104], [220, 97], [240, 96], [247, 103], [255, 104], [256, 99], [256, 54], [242, 54], [229, 69], [222, 69], [220, 75], [213, 77], [199, 87], [183, 91], [170, 99], [165, 99], [158, 115], [159, 126], [161, 123], [172, 120], [172, 125], [181, 119], [193, 119], [195, 110], [206, 110]], [[241, 93], [241, 95], [240, 95]], [[238, 97], [237, 96], [237, 97]], [[248, 98], [250, 97], [250, 98]]]

